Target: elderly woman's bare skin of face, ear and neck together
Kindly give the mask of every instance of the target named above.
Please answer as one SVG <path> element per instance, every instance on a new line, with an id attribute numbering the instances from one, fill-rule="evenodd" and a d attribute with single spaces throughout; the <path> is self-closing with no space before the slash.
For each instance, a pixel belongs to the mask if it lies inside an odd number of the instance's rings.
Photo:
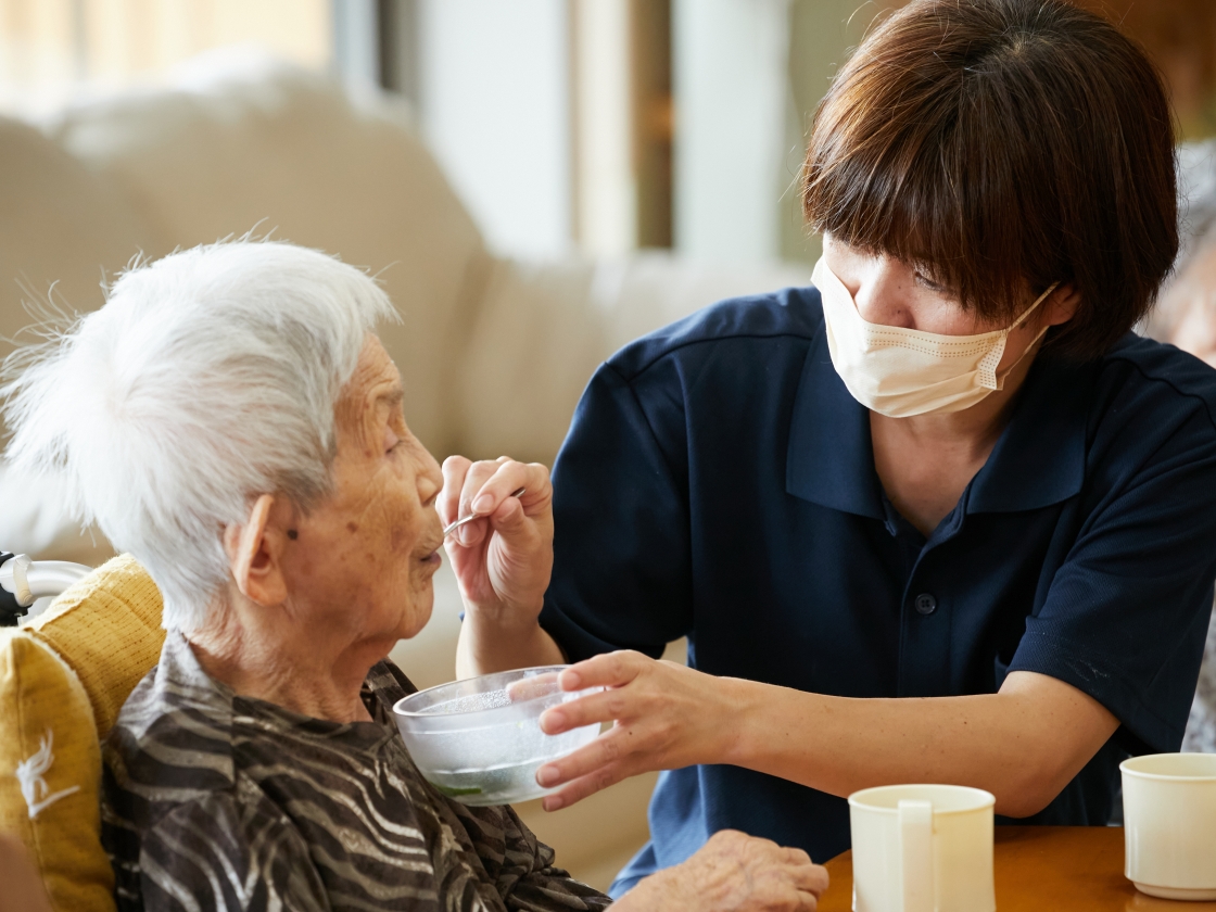
<path id="1" fill-rule="evenodd" d="M 261 495 L 224 530 L 226 603 L 187 640 L 238 693 L 333 721 L 365 721 L 368 669 L 430 617 L 443 475 L 410 433 L 401 379 L 368 336 L 337 407 L 333 490 L 308 513 Z"/>

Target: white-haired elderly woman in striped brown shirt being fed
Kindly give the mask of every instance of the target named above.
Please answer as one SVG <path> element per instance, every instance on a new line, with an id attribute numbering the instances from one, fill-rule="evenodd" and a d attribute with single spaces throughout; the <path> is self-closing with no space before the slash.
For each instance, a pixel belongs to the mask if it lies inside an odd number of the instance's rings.
<path id="1" fill-rule="evenodd" d="M 412 686 L 385 657 L 429 618 L 443 539 L 439 466 L 372 333 L 393 316 L 314 250 L 202 247 L 123 275 L 7 390 L 10 457 L 62 472 L 164 596 L 161 663 L 105 747 L 123 910 L 609 903 L 510 807 L 439 794 L 392 722 Z M 494 514 L 500 551 L 535 553 L 548 473 L 503 472 L 528 492 Z M 461 582 L 510 597 L 547 573 Z M 619 908 L 812 910 L 824 885 L 805 854 L 731 833 Z"/>

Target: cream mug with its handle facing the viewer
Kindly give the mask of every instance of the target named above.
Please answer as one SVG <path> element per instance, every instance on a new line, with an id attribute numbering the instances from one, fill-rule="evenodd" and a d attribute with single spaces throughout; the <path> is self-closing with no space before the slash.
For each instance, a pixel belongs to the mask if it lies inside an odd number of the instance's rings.
<path id="1" fill-rule="evenodd" d="M 992 912 L 992 806 L 963 786 L 849 795 L 855 912 Z"/>

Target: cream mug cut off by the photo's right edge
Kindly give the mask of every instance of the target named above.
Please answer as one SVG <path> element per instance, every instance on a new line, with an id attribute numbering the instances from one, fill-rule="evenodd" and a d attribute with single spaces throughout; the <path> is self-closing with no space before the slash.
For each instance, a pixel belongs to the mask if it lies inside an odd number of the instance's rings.
<path id="1" fill-rule="evenodd" d="M 1216 754 L 1124 760 L 1124 873 L 1167 900 L 1216 900 Z"/>

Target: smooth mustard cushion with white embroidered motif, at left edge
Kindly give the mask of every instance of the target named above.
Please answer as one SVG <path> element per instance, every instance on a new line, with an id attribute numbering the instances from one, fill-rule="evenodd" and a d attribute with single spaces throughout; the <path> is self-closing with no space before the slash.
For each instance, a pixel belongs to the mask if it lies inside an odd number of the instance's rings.
<path id="1" fill-rule="evenodd" d="M 80 681 L 24 631 L 0 631 L 0 831 L 29 848 L 57 912 L 114 908 L 100 786 L 101 750 Z"/>

